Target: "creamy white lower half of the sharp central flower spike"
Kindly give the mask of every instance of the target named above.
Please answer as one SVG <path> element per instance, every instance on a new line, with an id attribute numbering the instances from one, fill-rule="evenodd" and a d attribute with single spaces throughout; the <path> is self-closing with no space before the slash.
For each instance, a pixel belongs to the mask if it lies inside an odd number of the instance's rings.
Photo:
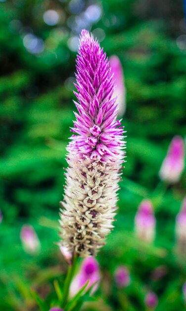
<path id="1" fill-rule="evenodd" d="M 73 156 L 68 163 L 60 214 L 62 244 L 87 257 L 96 254 L 113 228 L 120 167 L 118 161 L 76 161 Z"/>

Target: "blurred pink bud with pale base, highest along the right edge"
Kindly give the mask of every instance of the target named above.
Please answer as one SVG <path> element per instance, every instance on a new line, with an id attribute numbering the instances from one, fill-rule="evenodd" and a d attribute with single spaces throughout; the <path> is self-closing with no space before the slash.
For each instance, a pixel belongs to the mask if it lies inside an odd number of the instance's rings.
<path id="1" fill-rule="evenodd" d="M 178 182 L 184 170 L 184 157 L 184 140 L 181 136 L 175 136 L 161 165 L 159 171 L 160 179 L 170 184 Z"/>

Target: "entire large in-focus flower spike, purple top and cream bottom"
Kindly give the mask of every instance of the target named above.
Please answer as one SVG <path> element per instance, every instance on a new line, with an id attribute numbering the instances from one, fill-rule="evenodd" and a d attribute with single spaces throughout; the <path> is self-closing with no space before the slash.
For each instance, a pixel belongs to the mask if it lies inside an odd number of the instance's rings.
<path id="1" fill-rule="evenodd" d="M 82 30 L 75 95 L 75 134 L 67 147 L 61 244 L 82 257 L 95 255 L 113 228 L 124 162 L 123 127 L 117 116 L 113 76 L 103 49 Z"/>

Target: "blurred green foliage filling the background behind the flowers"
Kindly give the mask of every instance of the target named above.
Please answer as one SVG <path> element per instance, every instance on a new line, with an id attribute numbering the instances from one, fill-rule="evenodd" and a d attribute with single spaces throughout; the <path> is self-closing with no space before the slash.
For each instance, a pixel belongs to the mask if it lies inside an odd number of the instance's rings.
<path id="1" fill-rule="evenodd" d="M 163 197 L 153 198 L 155 244 L 143 245 L 133 233 L 138 205 L 152 196 L 172 137 L 186 135 L 186 48 L 176 41 L 186 33 L 182 1 L 90 0 L 84 9 L 90 4 L 102 8 L 91 30 L 103 30 L 100 45 L 107 56 L 117 55 L 124 68 L 127 110 L 122 122 L 128 138 L 117 222 L 98 255 L 103 300 L 82 310 L 142 311 L 148 290 L 159 297 L 157 311 L 186 310 L 186 259 L 176 255 L 174 233 L 186 172 Z M 44 22 L 47 9 L 62 14 L 57 25 Z M 45 298 L 49 309 L 55 299 L 53 280 L 64 280 L 66 264 L 55 242 L 75 109 L 71 15 L 78 14 L 69 10 L 68 0 L 0 1 L 0 310 L 38 310 L 30 288 Z M 31 31 L 44 40 L 40 54 L 24 47 L 24 35 Z M 41 240 L 38 255 L 22 248 L 25 223 L 34 226 Z M 131 272 L 132 283 L 125 290 L 117 290 L 113 281 L 120 264 Z M 152 270 L 160 265 L 167 273 L 153 281 Z"/>

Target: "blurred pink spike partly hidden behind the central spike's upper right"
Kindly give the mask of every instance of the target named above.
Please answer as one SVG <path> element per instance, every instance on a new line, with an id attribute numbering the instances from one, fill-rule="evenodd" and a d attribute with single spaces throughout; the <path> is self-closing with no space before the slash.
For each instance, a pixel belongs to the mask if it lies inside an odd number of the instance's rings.
<path id="1" fill-rule="evenodd" d="M 114 74 L 115 89 L 112 98 L 117 97 L 118 102 L 118 116 L 123 116 L 126 110 L 126 88 L 124 81 L 124 73 L 121 62 L 116 55 L 109 58 L 109 66 L 111 73 Z"/>

